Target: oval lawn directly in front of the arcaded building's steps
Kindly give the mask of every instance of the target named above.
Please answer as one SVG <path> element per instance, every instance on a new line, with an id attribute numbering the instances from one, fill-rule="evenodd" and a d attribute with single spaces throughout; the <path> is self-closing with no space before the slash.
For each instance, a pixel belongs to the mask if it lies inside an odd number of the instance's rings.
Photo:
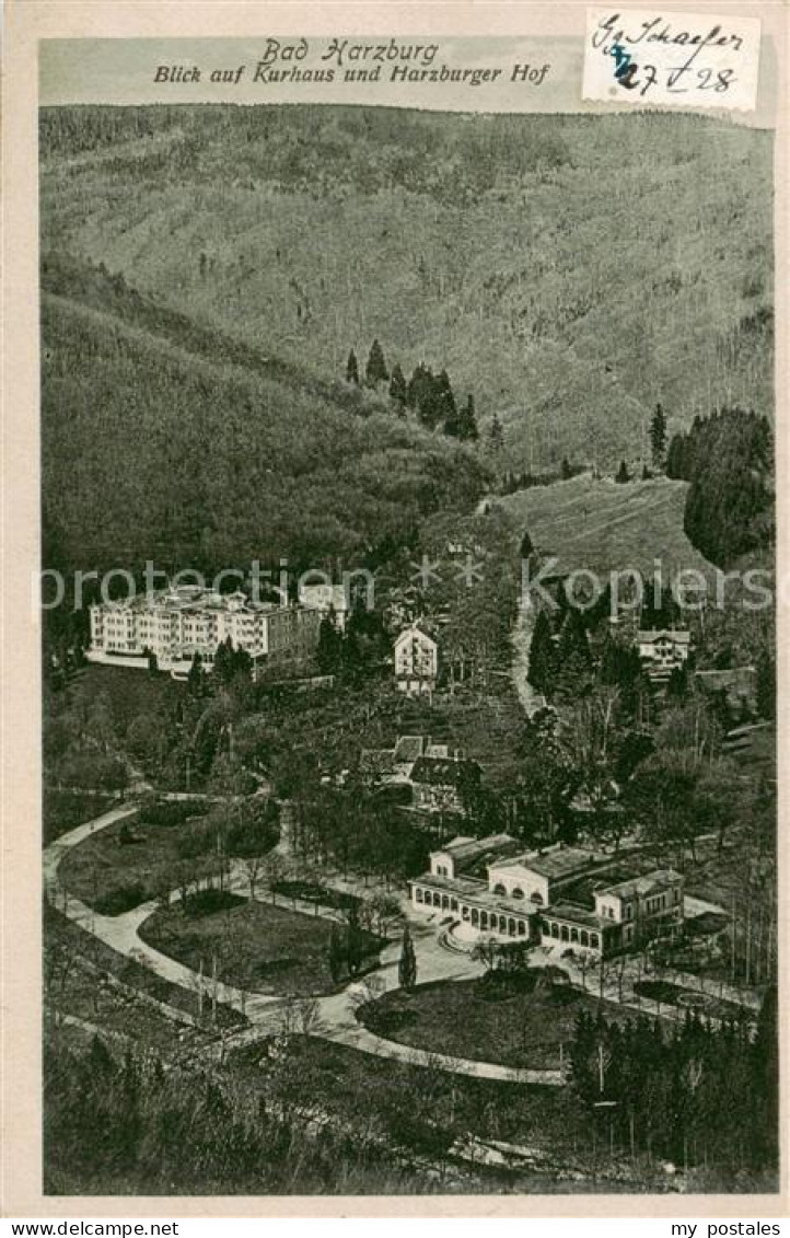
<path id="1" fill-rule="evenodd" d="M 505 1066 L 553 1068 L 560 1045 L 573 1039 L 579 1010 L 623 1023 L 638 1011 L 593 994 L 557 984 L 518 992 L 493 977 L 461 983 L 417 985 L 386 993 L 364 1006 L 360 1019 L 371 1031 L 416 1049 Z"/>

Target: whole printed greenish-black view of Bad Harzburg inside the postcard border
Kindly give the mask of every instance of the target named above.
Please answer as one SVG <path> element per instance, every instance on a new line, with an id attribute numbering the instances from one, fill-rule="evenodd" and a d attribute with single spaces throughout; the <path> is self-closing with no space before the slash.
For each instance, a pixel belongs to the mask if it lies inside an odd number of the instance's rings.
<path id="1" fill-rule="evenodd" d="M 638 16 L 40 45 L 45 1197 L 780 1192 L 774 120 Z"/>

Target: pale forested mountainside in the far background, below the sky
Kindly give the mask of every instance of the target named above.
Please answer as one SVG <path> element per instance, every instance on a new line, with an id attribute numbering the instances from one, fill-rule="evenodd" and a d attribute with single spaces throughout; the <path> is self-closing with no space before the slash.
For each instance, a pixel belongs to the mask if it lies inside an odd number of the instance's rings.
<path id="1" fill-rule="evenodd" d="M 446 369 L 500 467 L 773 412 L 771 135 L 698 116 L 45 109 L 42 244 L 265 355 Z M 649 157 L 648 157 L 649 156 Z"/>

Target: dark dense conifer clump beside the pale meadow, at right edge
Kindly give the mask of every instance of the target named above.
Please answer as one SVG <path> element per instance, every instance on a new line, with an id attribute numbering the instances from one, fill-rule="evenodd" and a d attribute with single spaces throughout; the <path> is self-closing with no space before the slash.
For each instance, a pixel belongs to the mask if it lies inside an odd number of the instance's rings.
<path id="1" fill-rule="evenodd" d="M 675 435 L 666 472 L 690 482 L 684 529 L 711 562 L 727 567 L 774 541 L 773 435 L 765 417 L 721 409 Z"/>

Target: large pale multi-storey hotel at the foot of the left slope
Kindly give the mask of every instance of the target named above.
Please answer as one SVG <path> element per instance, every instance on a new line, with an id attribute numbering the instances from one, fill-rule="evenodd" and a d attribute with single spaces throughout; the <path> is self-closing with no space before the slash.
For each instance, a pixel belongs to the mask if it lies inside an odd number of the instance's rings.
<path id="1" fill-rule="evenodd" d="M 206 670 L 223 641 L 255 661 L 308 656 L 318 644 L 322 613 L 315 607 L 251 602 L 246 594 L 178 586 L 90 607 L 88 659 L 186 675 L 196 652 Z"/>

